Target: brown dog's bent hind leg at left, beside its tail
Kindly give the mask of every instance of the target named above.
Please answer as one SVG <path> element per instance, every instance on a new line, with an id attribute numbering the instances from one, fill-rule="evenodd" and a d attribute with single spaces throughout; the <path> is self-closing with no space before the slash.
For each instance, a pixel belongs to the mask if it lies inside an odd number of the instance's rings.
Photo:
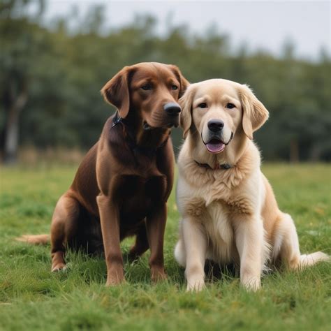
<path id="1" fill-rule="evenodd" d="M 61 196 L 57 202 L 50 231 L 52 272 L 63 270 L 66 267 L 64 261 L 66 244 L 76 233 L 79 210 L 78 201 L 68 196 L 68 193 Z"/>

